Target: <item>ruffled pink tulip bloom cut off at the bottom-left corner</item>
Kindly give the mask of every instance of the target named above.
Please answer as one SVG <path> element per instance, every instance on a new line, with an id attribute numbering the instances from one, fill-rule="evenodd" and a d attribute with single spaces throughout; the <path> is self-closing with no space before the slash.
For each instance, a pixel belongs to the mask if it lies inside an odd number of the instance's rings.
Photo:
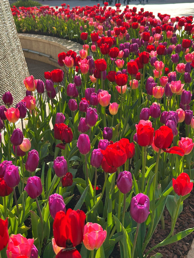
<path id="1" fill-rule="evenodd" d="M 30 257 L 34 239 L 25 238 L 21 234 L 12 234 L 7 246 L 7 257 L 16 258 L 19 255 Z"/>

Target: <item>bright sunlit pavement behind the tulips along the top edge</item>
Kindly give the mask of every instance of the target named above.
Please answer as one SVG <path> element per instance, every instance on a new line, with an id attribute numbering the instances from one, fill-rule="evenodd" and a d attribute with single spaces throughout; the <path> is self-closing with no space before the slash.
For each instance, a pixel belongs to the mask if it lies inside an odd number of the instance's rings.
<path id="1" fill-rule="evenodd" d="M 101 1 L 92 1 L 92 0 L 45 0 L 45 1 L 39 1 L 42 5 L 50 5 L 51 7 L 54 6 L 61 6 L 62 3 L 66 3 L 66 5 L 70 5 L 70 8 L 75 6 L 91 6 L 96 5 L 97 3 L 100 3 L 100 5 L 103 6 L 102 0 Z M 106 2 L 106 0 L 105 0 Z M 107 1 L 108 2 L 108 1 Z M 117 0 L 118 2 L 118 0 Z M 124 10 L 127 0 L 120 0 L 121 3 L 121 9 Z M 115 0 L 112 1 L 112 5 L 115 5 Z M 186 2 L 182 0 L 149 0 L 149 3 L 146 2 L 146 0 L 142 0 L 142 4 L 139 3 L 139 0 L 129 2 L 129 8 L 133 8 L 133 6 L 136 6 L 138 8 L 138 11 L 140 8 L 144 8 L 145 11 L 152 11 L 155 16 L 157 16 L 158 12 L 162 14 L 170 14 L 171 17 L 175 16 L 188 16 L 193 15 L 194 16 L 194 1 L 193 0 L 186 0 Z"/>

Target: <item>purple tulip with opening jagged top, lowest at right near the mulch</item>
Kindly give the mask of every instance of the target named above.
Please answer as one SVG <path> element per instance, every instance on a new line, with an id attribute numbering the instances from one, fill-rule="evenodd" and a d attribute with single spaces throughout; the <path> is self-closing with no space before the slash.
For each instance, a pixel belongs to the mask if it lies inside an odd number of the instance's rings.
<path id="1" fill-rule="evenodd" d="M 146 221 L 149 215 L 149 198 L 145 194 L 137 194 L 131 200 L 130 214 L 137 223 Z"/>

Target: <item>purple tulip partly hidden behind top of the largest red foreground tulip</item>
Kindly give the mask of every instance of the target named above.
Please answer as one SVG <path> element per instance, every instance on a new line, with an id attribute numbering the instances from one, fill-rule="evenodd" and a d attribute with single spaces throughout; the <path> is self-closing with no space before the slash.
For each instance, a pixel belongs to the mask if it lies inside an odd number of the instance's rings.
<path id="1" fill-rule="evenodd" d="M 49 196 L 49 211 L 53 219 L 55 219 L 55 215 L 58 211 L 64 211 L 66 213 L 65 203 L 60 194 L 52 194 Z"/>

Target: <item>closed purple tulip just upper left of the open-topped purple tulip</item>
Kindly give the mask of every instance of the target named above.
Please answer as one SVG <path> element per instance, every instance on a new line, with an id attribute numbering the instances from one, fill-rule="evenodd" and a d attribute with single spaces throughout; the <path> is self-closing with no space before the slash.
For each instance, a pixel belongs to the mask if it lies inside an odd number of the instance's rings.
<path id="1" fill-rule="evenodd" d="M 120 172 L 117 178 L 116 185 L 123 194 L 129 193 L 133 185 L 131 173 L 129 171 Z"/>

